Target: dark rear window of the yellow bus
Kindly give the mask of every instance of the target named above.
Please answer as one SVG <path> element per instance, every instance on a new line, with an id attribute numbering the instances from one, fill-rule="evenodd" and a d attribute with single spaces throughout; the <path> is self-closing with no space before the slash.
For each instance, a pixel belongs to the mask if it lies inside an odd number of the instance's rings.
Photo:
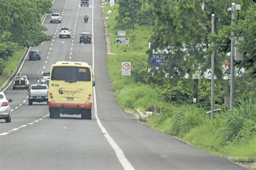
<path id="1" fill-rule="evenodd" d="M 54 67 L 51 72 L 51 80 L 58 81 L 91 81 L 90 69 L 86 67 Z"/>

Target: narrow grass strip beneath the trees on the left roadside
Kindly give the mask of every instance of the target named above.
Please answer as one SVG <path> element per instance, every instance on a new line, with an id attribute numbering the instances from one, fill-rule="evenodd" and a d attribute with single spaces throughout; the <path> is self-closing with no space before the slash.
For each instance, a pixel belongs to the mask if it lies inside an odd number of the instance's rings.
<path id="1" fill-rule="evenodd" d="M 25 53 L 26 48 L 19 49 L 14 56 L 11 56 L 7 61 L 5 61 L 5 68 L 3 74 L 0 76 L 0 87 L 3 86 L 6 80 L 8 80 L 9 76 L 19 65 L 19 60 L 21 60 L 23 54 Z"/>

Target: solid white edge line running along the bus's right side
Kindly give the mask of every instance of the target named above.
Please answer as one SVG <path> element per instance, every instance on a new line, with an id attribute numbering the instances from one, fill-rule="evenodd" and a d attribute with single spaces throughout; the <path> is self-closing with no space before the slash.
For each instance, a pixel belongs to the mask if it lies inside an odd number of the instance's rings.
<path id="1" fill-rule="evenodd" d="M 92 6 L 94 6 L 94 0 L 92 0 Z M 93 37 L 94 37 L 94 33 L 93 33 L 93 10 L 94 8 L 92 8 L 92 73 L 94 74 L 94 66 L 95 66 L 95 59 L 94 59 L 94 41 L 93 41 Z M 117 145 L 117 143 L 114 141 L 114 139 L 110 136 L 110 134 L 106 131 L 106 129 L 104 128 L 104 126 L 102 125 L 102 123 L 99 120 L 98 117 L 98 113 L 97 113 L 97 102 L 96 102 L 96 90 L 95 87 L 93 87 L 93 98 L 94 98 L 94 105 L 95 105 L 95 118 L 97 120 L 97 124 L 99 126 L 99 128 L 102 130 L 105 138 L 107 139 L 107 141 L 109 142 L 109 144 L 112 146 L 114 152 L 116 152 L 116 156 L 117 159 L 119 160 L 120 164 L 123 166 L 124 169 L 134 169 L 134 167 L 132 166 L 132 164 L 130 163 L 130 161 L 125 157 L 123 150 Z"/>

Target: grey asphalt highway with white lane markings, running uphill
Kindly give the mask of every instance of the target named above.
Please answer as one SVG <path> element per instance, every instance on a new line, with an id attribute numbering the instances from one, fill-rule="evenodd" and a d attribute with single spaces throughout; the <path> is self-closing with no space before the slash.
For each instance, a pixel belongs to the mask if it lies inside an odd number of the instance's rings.
<path id="1" fill-rule="evenodd" d="M 52 11 L 63 15 L 62 23 L 50 24 L 46 16 L 43 25 L 53 38 L 31 48 L 42 52 L 41 61 L 26 58 L 21 69 L 32 84 L 56 61 L 88 62 L 96 80 L 92 119 L 50 119 L 46 103 L 28 105 L 28 91 L 10 86 L 5 94 L 13 100 L 12 122 L 0 120 L 0 169 L 242 169 L 147 128 L 118 106 L 107 74 L 101 5 L 101 0 L 91 0 L 89 8 L 79 0 L 55 0 Z M 58 37 L 61 27 L 71 29 L 70 39 Z M 79 44 L 82 32 L 93 35 L 92 44 Z"/>

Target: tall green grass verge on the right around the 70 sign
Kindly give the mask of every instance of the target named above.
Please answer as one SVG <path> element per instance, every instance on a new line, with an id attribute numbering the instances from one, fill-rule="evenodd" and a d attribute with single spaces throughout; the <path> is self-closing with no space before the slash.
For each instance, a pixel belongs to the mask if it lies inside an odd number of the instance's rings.
<path id="1" fill-rule="evenodd" d="M 110 33 L 111 52 L 107 56 L 110 80 L 116 91 L 117 102 L 123 109 L 149 111 L 154 107 L 155 114 L 150 115 L 146 125 L 166 134 L 177 136 L 190 144 L 208 152 L 237 158 L 237 161 L 256 161 L 256 125 L 255 101 L 241 102 L 233 112 L 221 112 L 213 120 L 207 116 L 206 109 L 195 105 L 173 105 L 164 103 L 158 95 L 159 89 L 139 83 L 140 74 L 147 74 L 149 27 L 136 26 L 135 30 L 127 29 L 126 37 L 130 38 L 129 46 L 115 44 L 117 34 L 118 5 L 104 8 L 111 10 L 107 20 Z M 126 52 L 124 51 L 126 49 Z M 121 75 L 121 62 L 131 62 L 131 76 Z M 140 70 L 143 70 L 140 73 Z"/>

